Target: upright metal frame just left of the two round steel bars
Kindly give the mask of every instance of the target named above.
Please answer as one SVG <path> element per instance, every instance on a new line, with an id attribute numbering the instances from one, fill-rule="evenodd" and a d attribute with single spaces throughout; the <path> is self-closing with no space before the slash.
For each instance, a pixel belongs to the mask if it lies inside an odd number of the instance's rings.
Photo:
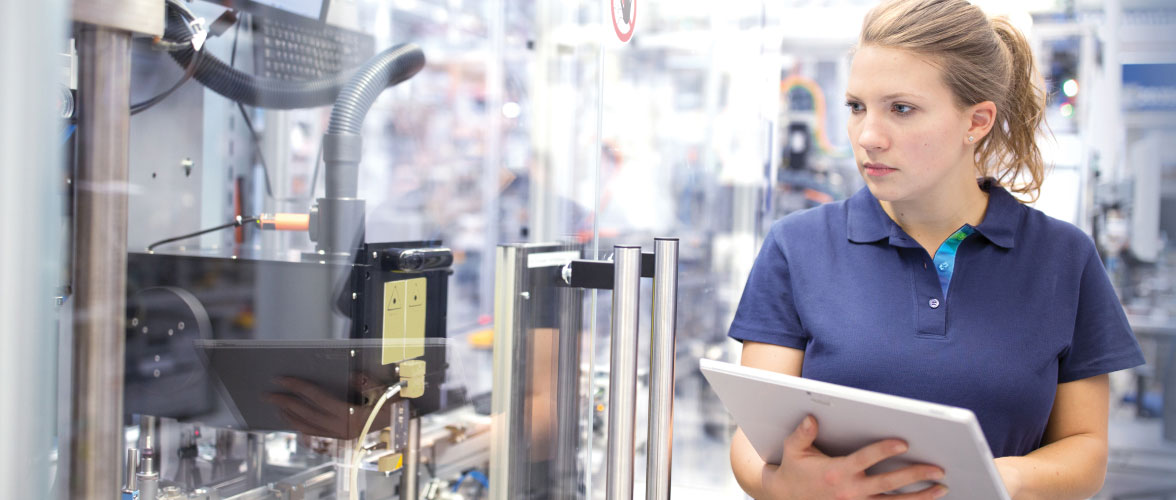
<path id="1" fill-rule="evenodd" d="M 561 286 L 559 273 L 580 253 L 566 244 L 497 247 L 490 499 L 579 498 L 583 292 Z M 535 328 L 548 308 L 560 312 L 555 321 Z M 539 380 L 552 385 L 535 391 Z M 542 446 L 530 442 L 536 432 L 549 433 Z"/>

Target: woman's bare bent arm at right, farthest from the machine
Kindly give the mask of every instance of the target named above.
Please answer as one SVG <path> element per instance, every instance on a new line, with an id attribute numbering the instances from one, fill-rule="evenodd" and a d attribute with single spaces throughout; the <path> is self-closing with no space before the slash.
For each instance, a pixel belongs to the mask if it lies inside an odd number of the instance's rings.
<path id="1" fill-rule="evenodd" d="M 1045 446 L 1024 456 L 996 459 L 1014 500 L 1087 499 L 1107 475 L 1107 375 L 1060 384 Z"/>

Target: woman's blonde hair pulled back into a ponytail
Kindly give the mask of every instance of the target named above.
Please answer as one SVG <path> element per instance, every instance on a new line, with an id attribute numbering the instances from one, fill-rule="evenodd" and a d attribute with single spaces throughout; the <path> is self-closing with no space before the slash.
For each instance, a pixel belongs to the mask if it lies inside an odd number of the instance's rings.
<path id="1" fill-rule="evenodd" d="M 900 48 L 928 56 L 961 108 L 996 104 L 996 124 L 976 144 L 976 168 L 1009 191 L 1037 199 L 1044 162 L 1036 134 L 1045 93 L 1029 41 L 1007 19 L 988 18 L 965 0 L 891 0 L 866 14 L 858 47 Z"/>

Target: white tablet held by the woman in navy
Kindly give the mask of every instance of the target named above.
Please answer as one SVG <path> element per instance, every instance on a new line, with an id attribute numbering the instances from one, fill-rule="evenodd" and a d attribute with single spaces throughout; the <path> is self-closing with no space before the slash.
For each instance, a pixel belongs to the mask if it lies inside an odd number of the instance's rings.
<path id="1" fill-rule="evenodd" d="M 703 359 L 702 374 L 743 429 L 760 458 L 780 464 L 784 438 L 806 415 L 817 419 L 816 447 L 841 456 L 883 439 L 909 451 L 867 473 L 931 464 L 946 472 L 947 498 L 1009 500 L 988 441 L 969 409 Z M 930 484 L 914 485 L 907 491 Z"/>

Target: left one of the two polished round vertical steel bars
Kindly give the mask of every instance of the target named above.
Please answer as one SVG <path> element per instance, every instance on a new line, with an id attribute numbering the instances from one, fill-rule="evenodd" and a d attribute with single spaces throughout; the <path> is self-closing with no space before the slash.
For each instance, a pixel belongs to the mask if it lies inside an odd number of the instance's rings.
<path id="1" fill-rule="evenodd" d="M 608 500 L 633 498 L 637 418 L 637 326 L 641 247 L 614 246 L 613 334 L 608 374 Z"/>

